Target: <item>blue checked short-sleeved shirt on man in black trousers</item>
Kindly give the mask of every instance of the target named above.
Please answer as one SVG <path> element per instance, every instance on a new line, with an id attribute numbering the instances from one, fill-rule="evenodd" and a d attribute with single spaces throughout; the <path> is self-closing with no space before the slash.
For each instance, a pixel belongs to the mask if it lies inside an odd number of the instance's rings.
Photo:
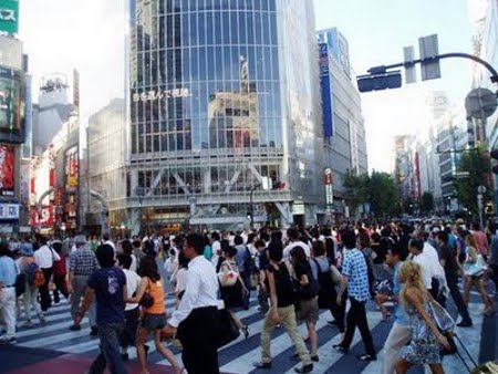
<path id="1" fill-rule="evenodd" d="M 347 249 L 342 264 L 342 273 L 347 277 L 347 294 L 356 301 L 370 299 L 369 270 L 366 260 L 356 248 Z"/>

